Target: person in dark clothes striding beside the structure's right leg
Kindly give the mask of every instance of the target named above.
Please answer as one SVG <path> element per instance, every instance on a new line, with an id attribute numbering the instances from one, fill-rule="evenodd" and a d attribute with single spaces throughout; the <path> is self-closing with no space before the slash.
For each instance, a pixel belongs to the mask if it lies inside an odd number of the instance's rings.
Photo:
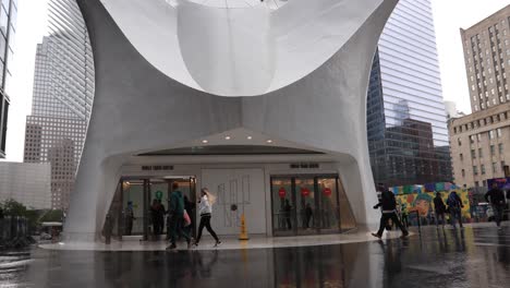
<path id="1" fill-rule="evenodd" d="M 379 203 L 374 206 L 374 209 L 382 207 L 382 215 L 380 216 L 379 230 L 376 233 L 372 233 L 372 236 L 380 239 L 385 228 L 387 227 L 388 220 L 391 219 L 392 223 L 396 224 L 402 231 L 402 238 L 408 237 L 408 229 L 403 227 L 402 223 L 400 223 L 399 217 L 397 216 L 397 201 L 393 193 L 384 187 L 380 188 L 380 191 L 381 194 Z"/>

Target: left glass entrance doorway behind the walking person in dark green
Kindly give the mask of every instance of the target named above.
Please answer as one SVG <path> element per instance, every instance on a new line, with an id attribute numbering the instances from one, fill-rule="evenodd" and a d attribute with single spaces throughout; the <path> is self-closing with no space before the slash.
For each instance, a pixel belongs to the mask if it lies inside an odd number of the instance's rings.
<path id="1" fill-rule="evenodd" d="M 167 215 L 172 185 L 177 183 L 191 209 L 195 236 L 196 179 L 190 177 L 122 178 L 110 207 L 113 220 L 112 235 L 119 239 L 142 236 L 144 240 L 166 238 Z M 186 205 L 186 204 L 185 204 Z"/>

